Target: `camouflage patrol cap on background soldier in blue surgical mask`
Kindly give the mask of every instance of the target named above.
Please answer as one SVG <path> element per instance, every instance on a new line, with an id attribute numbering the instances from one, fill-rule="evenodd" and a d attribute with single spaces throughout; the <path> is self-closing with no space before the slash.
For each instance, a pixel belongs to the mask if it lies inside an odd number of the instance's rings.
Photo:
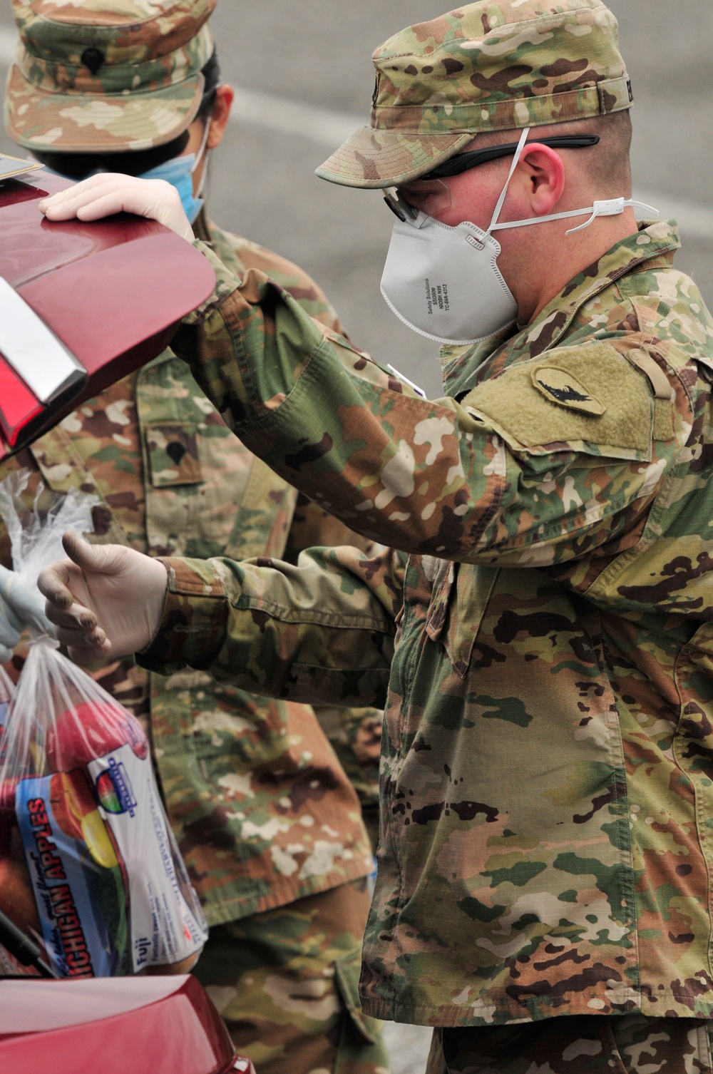
<path id="1" fill-rule="evenodd" d="M 29 149 L 120 153 L 195 118 L 217 0 L 12 0 L 8 133 Z"/>

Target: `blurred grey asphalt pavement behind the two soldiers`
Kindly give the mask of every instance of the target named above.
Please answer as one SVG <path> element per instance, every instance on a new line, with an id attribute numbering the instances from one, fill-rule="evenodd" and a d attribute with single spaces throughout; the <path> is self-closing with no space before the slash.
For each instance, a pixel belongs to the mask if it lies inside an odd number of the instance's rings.
<path id="1" fill-rule="evenodd" d="M 635 90 L 636 194 L 673 216 L 678 265 L 713 304 L 713 4 L 711 0 L 611 0 Z M 436 397 L 437 347 L 410 332 L 379 293 L 391 216 L 378 192 L 314 176 L 368 121 L 370 53 L 434 0 L 222 0 L 213 27 L 223 73 L 238 90 L 224 144 L 212 162 L 209 207 L 222 227 L 292 258 L 330 294 L 354 342 Z M 0 75 L 12 57 L 8 0 L 0 8 Z M 0 149 L 12 145 L 0 135 Z M 423 1069 L 428 1033 L 390 1029 L 395 1074 Z"/>

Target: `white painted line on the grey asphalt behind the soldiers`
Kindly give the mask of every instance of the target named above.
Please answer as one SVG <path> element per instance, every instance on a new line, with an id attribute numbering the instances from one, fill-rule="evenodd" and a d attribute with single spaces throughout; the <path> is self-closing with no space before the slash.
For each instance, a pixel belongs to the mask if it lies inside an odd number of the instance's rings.
<path id="1" fill-rule="evenodd" d="M 14 30 L 0 27 L 0 64 L 12 63 L 16 40 Z M 306 139 L 328 153 L 336 149 L 358 127 L 368 124 L 367 116 L 333 112 L 331 108 L 321 108 L 244 86 L 235 87 L 231 118 L 237 124 L 250 124 L 277 134 Z M 679 201 L 653 191 L 637 190 L 635 197 L 655 205 L 663 217 L 678 220 L 684 236 L 713 242 L 712 207 Z"/>

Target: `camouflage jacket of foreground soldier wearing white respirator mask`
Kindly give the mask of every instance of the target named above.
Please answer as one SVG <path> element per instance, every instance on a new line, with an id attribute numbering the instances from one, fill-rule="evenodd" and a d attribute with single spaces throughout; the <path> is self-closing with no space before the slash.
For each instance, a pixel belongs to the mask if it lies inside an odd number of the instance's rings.
<path id="1" fill-rule="evenodd" d="M 253 450 L 410 553 L 171 560 L 142 657 L 388 688 L 368 1014 L 713 1015 L 713 321 L 678 246 L 641 226 L 446 351 L 436 403 L 256 274 L 174 342 Z"/>

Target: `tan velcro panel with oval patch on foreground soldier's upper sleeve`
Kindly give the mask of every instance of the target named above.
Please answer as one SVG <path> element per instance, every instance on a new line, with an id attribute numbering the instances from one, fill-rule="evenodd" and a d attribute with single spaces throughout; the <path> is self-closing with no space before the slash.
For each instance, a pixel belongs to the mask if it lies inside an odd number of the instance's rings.
<path id="1" fill-rule="evenodd" d="M 558 347 L 475 388 L 463 406 L 513 447 L 590 444 L 602 454 L 651 454 L 651 390 L 607 343 Z"/>

